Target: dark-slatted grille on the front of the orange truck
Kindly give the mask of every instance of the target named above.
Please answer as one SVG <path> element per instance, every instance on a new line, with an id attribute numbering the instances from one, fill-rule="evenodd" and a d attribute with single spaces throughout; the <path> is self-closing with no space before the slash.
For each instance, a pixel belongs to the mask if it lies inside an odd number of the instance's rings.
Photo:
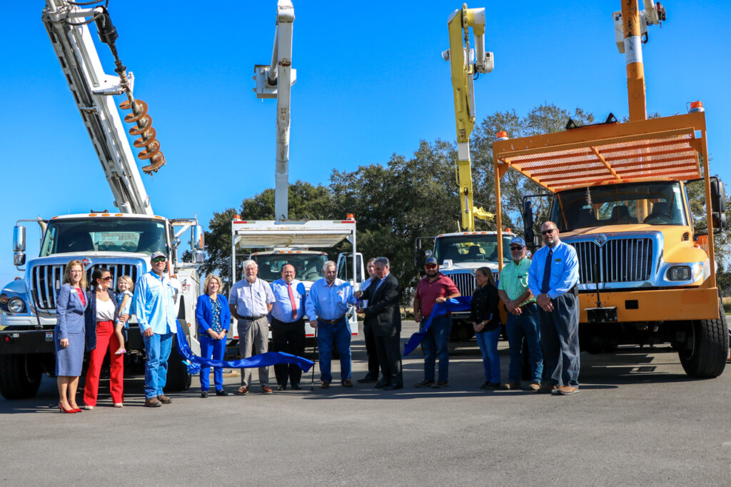
<path id="1" fill-rule="evenodd" d="M 608 240 L 603 246 L 593 241 L 567 242 L 576 249 L 579 258 L 579 282 L 637 282 L 650 279 L 652 271 L 652 239 L 620 238 Z"/>

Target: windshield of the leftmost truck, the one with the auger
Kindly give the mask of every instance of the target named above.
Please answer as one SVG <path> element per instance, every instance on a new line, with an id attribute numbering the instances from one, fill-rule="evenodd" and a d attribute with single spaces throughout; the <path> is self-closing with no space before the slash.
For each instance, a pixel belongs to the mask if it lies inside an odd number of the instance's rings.
<path id="1" fill-rule="evenodd" d="M 61 253 L 167 253 L 164 222 L 131 218 L 52 220 L 43 235 L 41 257 Z"/>

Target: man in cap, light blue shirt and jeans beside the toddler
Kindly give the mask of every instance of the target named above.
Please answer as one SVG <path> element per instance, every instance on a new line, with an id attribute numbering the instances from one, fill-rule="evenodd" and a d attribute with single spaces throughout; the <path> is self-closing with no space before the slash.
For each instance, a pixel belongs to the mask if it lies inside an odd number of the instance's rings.
<path id="1" fill-rule="evenodd" d="M 178 331 L 175 313 L 177 294 L 170 277 L 165 275 L 167 258 L 162 252 L 150 257 L 151 271 L 137 279 L 135 315 L 145 342 L 145 406 L 160 407 L 173 400 L 162 393 L 167 380 L 167 359 Z"/>

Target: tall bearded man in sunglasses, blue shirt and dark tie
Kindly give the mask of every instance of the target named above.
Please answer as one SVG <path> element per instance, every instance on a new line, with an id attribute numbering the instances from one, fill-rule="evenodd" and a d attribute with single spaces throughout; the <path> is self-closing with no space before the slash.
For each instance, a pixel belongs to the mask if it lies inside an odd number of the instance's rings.
<path id="1" fill-rule="evenodd" d="M 541 225 L 545 246 L 533 256 L 528 285 L 536 296 L 543 366 L 550 383 L 543 392 L 579 392 L 579 260 L 576 250 L 558 238 L 553 222 Z"/>

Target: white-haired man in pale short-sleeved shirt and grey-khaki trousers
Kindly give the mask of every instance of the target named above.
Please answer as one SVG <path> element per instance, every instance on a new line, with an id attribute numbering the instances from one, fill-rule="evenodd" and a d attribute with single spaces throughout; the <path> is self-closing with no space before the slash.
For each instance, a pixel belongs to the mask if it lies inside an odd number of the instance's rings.
<path id="1" fill-rule="evenodd" d="M 267 352 L 269 345 L 269 321 L 267 314 L 272 309 L 274 294 L 269 283 L 257 279 L 259 266 L 253 260 L 243 261 L 244 279 L 236 282 L 229 291 L 229 308 L 235 317 L 238 331 L 238 350 L 241 358 L 249 358 Z M 269 367 L 259 368 L 259 384 L 262 393 L 272 393 L 269 387 Z M 251 369 L 241 369 L 239 394 L 249 393 Z"/>

